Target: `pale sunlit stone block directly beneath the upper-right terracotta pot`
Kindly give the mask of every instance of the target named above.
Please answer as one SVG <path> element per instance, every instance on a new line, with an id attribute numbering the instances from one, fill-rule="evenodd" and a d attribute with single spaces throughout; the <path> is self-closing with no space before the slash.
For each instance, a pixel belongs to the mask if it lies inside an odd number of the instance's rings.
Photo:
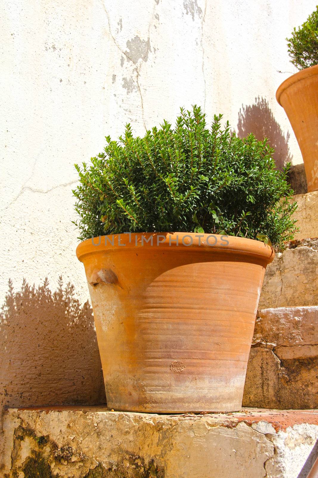
<path id="1" fill-rule="evenodd" d="M 318 191 L 307 194 L 297 194 L 293 196 L 297 201 L 298 207 L 293 214 L 297 219 L 296 226 L 299 232 L 295 234 L 295 239 L 317 238 L 318 237 Z"/>

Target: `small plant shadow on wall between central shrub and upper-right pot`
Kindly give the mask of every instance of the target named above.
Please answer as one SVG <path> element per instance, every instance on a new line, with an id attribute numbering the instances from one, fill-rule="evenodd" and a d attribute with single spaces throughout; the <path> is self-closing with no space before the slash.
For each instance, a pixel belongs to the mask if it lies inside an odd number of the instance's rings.
<path id="1" fill-rule="evenodd" d="M 286 137 L 274 118 L 265 98 L 255 98 L 253 105 L 242 105 L 238 113 L 237 136 L 244 138 L 249 133 L 254 133 L 258 141 L 268 139 L 274 148 L 274 160 L 277 169 L 282 170 L 287 163 L 292 161 L 293 156 L 289 151 L 288 141 L 290 133 Z"/>

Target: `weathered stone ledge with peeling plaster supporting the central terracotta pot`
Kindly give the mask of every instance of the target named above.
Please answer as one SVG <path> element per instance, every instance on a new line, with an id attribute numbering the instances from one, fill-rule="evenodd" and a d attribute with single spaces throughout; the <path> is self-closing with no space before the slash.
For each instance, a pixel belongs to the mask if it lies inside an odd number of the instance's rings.
<path id="1" fill-rule="evenodd" d="M 11 409 L 4 431 L 6 478 L 305 478 L 318 451 L 309 410 Z"/>

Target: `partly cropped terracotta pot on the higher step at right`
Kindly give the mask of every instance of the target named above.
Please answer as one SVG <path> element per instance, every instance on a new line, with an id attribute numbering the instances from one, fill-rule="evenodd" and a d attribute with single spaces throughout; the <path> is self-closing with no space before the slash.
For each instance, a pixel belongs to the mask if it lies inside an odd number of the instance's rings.
<path id="1" fill-rule="evenodd" d="M 299 71 L 277 89 L 303 155 L 308 192 L 318 191 L 318 65 Z"/>

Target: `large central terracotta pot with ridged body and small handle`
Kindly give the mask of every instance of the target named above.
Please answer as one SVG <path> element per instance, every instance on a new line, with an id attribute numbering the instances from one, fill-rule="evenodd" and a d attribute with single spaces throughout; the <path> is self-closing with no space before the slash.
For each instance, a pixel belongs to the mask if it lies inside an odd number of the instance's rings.
<path id="1" fill-rule="evenodd" d="M 91 294 L 108 406 L 239 410 L 273 249 L 252 239 L 187 233 L 94 242 L 83 241 L 76 254 Z"/>

